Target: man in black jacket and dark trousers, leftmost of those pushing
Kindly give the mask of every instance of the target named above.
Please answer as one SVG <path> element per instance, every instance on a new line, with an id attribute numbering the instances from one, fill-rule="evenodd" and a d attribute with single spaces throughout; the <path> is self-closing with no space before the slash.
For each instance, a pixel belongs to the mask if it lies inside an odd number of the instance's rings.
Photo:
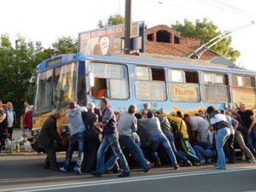
<path id="1" fill-rule="evenodd" d="M 54 146 L 54 140 L 62 145 L 65 141 L 59 136 L 57 132 L 56 120 L 61 117 L 61 112 L 59 109 L 54 109 L 51 115 L 44 121 L 44 125 L 38 135 L 38 143 L 40 143 L 47 154 L 44 168 L 50 170 L 59 170 L 57 166 L 56 152 Z"/>

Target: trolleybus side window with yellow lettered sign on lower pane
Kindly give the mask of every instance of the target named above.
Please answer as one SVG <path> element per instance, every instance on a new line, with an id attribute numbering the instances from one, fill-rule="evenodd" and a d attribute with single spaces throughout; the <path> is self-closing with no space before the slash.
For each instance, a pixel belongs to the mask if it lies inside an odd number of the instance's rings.
<path id="1" fill-rule="evenodd" d="M 169 69 L 168 84 L 172 101 L 200 102 L 201 96 L 197 72 Z"/>

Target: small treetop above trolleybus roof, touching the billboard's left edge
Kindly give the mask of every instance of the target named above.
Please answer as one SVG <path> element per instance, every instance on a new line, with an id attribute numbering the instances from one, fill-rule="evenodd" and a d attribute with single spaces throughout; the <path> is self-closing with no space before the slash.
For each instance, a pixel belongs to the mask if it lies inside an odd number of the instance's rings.
<path id="1" fill-rule="evenodd" d="M 58 38 L 55 43 L 52 44 L 55 49 L 55 54 L 68 54 L 78 52 L 78 39 L 71 38 L 69 36 Z"/>

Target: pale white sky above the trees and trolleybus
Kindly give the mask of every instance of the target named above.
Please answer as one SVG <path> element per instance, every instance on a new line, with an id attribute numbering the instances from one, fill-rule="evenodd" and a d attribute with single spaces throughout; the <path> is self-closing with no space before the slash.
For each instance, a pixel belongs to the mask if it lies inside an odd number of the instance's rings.
<path id="1" fill-rule="evenodd" d="M 230 34 L 231 46 L 241 52 L 237 65 L 256 70 L 254 0 L 131 0 L 131 4 L 132 20 L 144 20 L 148 28 L 204 18 L 221 32 L 245 26 Z M 79 32 L 96 29 L 98 21 L 108 20 L 109 15 L 125 15 L 125 0 L 8 0 L 0 5 L 0 35 L 9 35 L 14 43 L 20 34 L 41 41 L 44 48 L 57 38 L 78 38 Z"/>

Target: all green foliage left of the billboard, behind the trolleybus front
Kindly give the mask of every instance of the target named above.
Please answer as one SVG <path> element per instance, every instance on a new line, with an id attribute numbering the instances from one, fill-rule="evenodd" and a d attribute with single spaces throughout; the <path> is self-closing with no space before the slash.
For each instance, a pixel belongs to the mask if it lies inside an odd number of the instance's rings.
<path id="1" fill-rule="evenodd" d="M 18 119 L 24 113 L 23 103 L 33 103 L 35 87 L 31 81 L 36 78 L 38 64 L 54 55 L 78 52 L 78 41 L 71 37 L 58 38 L 52 46 L 54 49 L 44 49 L 41 42 L 33 43 L 20 35 L 12 45 L 8 35 L 0 36 L 0 99 L 13 103 Z"/>

